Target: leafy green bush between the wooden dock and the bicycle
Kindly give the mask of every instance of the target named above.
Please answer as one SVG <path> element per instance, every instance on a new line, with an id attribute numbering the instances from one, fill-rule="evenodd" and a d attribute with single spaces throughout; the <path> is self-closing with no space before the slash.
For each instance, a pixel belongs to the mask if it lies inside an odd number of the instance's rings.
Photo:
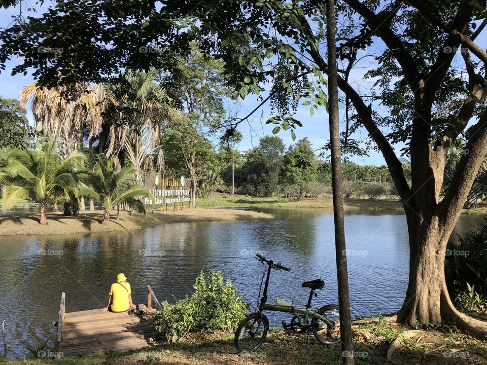
<path id="1" fill-rule="evenodd" d="M 237 293 L 230 280 L 224 283 L 219 271 L 212 270 L 207 277 L 201 271 L 193 287 L 192 296 L 175 304 L 165 301 L 162 309 L 151 316 L 157 322 L 157 330 L 166 339 L 203 330 L 233 332 L 248 313 L 242 295 Z"/>

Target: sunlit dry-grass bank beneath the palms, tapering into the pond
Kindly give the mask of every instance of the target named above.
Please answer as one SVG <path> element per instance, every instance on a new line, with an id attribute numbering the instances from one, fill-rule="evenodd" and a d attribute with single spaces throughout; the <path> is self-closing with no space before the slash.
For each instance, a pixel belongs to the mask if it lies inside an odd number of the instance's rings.
<path id="1" fill-rule="evenodd" d="M 236 221 L 270 218 L 272 215 L 248 210 L 184 209 L 177 211 L 148 210 L 147 215 L 121 212 L 120 220 L 113 216 L 109 224 L 100 223 L 101 211 L 83 211 L 78 217 L 65 217 L 61 213 L 48 213 L 47 225 L 39 224 L 39 214 L 0 216 L 0 235 L 70 234 L 135 230 L 163 223 L 197 221 Z"/>

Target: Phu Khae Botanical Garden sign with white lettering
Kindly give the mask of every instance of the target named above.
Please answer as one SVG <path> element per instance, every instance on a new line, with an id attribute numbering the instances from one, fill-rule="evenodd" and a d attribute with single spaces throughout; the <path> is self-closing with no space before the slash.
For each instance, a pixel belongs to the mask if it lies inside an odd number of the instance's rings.
<path id="1" fill-rule="evenodd" d="M 148 173 L 144 178 L 144 185 L 149 188 L 150 196 L 144 199 L 145 205 L 165 206 L 167 209 L 183 208 L 189 203 L 191 191 L 184 187 L 185 178 L 160 178 L 157 173 Z"/>

